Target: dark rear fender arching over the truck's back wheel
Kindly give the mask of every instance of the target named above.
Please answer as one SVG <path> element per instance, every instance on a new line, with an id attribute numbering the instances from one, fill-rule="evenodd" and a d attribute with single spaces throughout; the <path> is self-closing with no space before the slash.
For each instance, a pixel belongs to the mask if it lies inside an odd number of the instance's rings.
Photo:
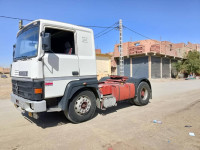
<path id="1" fill-rule="evenodd" d="M 138 88 L 139 84 L 141 82 L 146 82 L 149 85 L 150 89 L 151 89 L 150 98 L 152 99 L 152 88 L 151 88 L 151 83 L 150 83 L 149 79 L 147 79 L 147 78 L 132 78 L 132 77 L 130 77 L 130 78 L 128 78 L 128 80 L 126 82 L 134 83 L 134 85 L 135 85 L 135 96 L 137 96 L 137 88 Z"/>

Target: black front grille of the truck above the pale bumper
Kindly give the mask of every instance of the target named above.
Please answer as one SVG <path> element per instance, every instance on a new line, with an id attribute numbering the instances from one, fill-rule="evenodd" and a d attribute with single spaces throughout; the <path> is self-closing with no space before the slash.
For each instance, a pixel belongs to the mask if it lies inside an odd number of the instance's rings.
<path id="1" fill-rule="evenodd" d="M 12 91 L 14 94 L 28 100 L 39 101 L 43 99 L 44 94 L 35 94 L 35 88 L 43 88 L 43 81 L 19 81 L 12 80 Z M 43 90 L 44 91 L 44 90 Z"/>

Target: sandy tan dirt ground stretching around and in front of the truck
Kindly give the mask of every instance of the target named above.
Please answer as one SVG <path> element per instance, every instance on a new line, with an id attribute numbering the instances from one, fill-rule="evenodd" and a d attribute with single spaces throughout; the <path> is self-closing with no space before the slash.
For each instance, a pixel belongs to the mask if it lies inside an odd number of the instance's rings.
<path id="1" fill-rule="evenodd" d="M 0 149 L 200 150 L 200 80 L 151 83 L 153 99 L 147 106 L 121 103 L 97 111 L 92 120 L 81 124 L 70 123 L 62 112 L 29 118 L 13 106 L 9 96 L 1 97 Z M 0 90 L 1 96 L 5 93 Z"/>

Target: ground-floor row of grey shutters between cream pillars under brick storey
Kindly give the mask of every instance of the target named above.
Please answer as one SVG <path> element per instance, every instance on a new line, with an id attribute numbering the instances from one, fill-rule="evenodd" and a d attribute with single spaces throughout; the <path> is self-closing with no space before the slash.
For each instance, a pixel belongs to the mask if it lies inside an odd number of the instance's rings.
<path id="1" fill-rule="evenodd" d="M 118 59 L 116 59 L 117 69 L 115 75 L 119 75 L 119 63 L 117 60 Z M 172 62 L 177 61 L 174 58 L 155 55 L 140 57 L 130 56 L 129 58 L 125 58 L 125 60 L 127 60 L 124 69 L 125 76 L 135 78 L 147 77 L 149 79 L 171 78 L 174 72 Z"/>

